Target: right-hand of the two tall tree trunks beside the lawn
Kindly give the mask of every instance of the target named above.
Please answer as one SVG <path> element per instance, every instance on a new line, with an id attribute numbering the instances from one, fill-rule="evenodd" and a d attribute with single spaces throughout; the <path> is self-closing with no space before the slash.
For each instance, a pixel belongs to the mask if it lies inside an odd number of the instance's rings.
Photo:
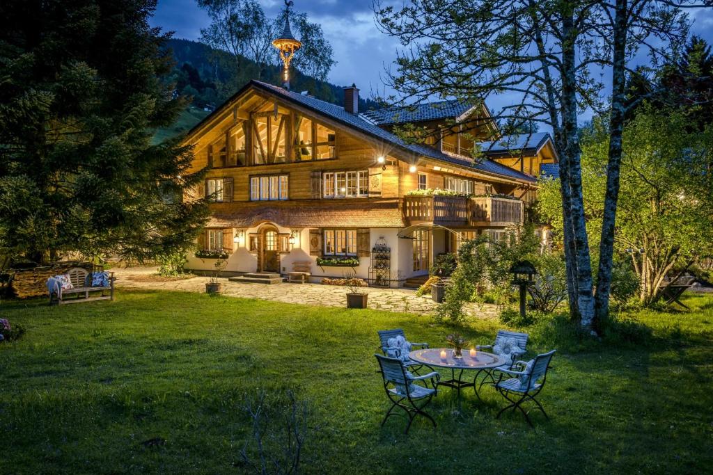
<path id="1" fill-rule="evenodd" d="M 614 233 L 619 199 L 619 175 L 622 158 L 622 131 L 626 100 L 627 0 L 615 0 L 614 51 L 612 63 L 612 110 L 609 119 L 609 159 L 607 191 L 604 198 L 602 234 L 599 244 L 599 267 L 595 298 L 595 327 L 609 316 L 609 297 L 614 265 Z"/>

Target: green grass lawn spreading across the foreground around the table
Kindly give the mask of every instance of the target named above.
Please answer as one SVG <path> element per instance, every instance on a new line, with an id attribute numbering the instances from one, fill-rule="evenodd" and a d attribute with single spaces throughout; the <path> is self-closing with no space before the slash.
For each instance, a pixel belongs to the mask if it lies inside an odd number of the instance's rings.
<path id="1" fill-rule="evenodd" d="M 260 389 L 309 401 L 306 473 L 705 471 L 713 298 L 686 302 L 694 312 L 637 315 L 652 328 L 643 345 L 534 328 L 531 350 L 560 346 L 541 397 L 550 422 L 496 420 L 503 400 L 491 389 L 480 404 L 467 391 L 458 416 L 446 389 L 431 405 L 436 430 L 420 420 L 404 436 L 404 419 L 379 427 L 388 406 L 376 330 L 443 345 L 451 330 L 429 318 L 158 291 L 61 307 L 5 301 L 0 318 L 27 332 L 0 345 L 0 473 L 245 473 L 243 407 Z M 463 333 L 486 343 L 497 328 Z M 165 444 L 141 444 L 157 437 Z"/>

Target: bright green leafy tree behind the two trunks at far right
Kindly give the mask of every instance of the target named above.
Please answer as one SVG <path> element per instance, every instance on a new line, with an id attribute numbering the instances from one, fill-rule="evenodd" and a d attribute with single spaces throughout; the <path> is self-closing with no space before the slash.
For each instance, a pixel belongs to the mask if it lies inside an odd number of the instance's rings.
<path id="1" fill-rule="evenodd" d="M 597 243 L 607 164 L 607 130 L 602 119 L 583 136 L 583 183 L 590 244 Z M 661 137 L 666 137 L 662 140 Z M 623 301 L 634 281 L 623 269 L 637 273 L 638 299 L 645 305 L 657 301 L 665 276 L 713 254 L 713 127 L 690 131 L 686 116 L 676 110 L 642 106 L 623 135 L 623 165 L 617 209 L 615 251 L 622 266 L 620 287 L 612 292 Z M 555 230 L 562 229 L 562 211 L 555 199 L 559 180 L 540 187 L 540 210 Z M 561 236 L 560 233 L 557 236 Z M 627 282 L 627 283 L 625 283 Z"/>

